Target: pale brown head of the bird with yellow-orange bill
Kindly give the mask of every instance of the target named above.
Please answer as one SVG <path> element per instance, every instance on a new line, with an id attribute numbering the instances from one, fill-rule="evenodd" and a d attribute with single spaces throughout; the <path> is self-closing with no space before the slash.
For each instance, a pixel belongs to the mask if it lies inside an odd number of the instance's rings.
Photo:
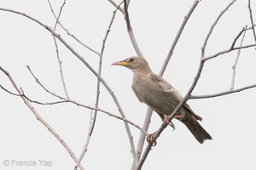
<path id="1" fill-rule="evenodd" d="M 113 63 L 112 65 L 123 65 L 131 71 L 151 71 L 148 62 L 143 57 L 129 57 L 127 59 Z"/>

